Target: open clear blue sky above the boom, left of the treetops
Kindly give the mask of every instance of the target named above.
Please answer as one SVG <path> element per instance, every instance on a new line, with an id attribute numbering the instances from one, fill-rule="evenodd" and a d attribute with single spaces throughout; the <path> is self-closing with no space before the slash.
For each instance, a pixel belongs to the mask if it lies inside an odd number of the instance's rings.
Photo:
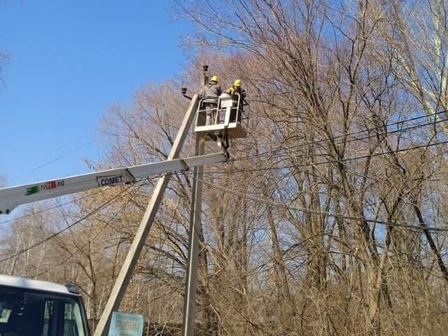
<path id="1" fill-rule="evenodd" d="M 87 172 L 112 103 L 180 73 L 170 1 L 0 1 L 0 175 L 8 186 Z"/>

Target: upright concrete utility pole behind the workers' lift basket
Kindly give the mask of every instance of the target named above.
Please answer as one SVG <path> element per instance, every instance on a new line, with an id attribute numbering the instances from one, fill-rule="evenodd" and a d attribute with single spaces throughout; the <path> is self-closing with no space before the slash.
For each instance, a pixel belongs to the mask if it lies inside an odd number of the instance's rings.
<path id="1" fill-rule="evenodd" d="M 201 84 L 208 82 L 208 66 L 203 66 Z M 202 118 L 202 119 L 200 119 Z M 198 124 L 205 124 L 203 115 L 198 115 Z M 196 133 L 195 155 L 203 155 L 205 152 L 205 135 Z M 187 279 L 185 282 L 184 312 L 182 321 L 182 336 L 194 335 L 194 318 L 196 316 L 196 288 L 198 284 L 198 254 L 199 240 L 202 235 L 202 181 L 204 167 L 195 166 L 192 184 L 192 208 L 190 212 L 190 227 L 188 238 Z"/>

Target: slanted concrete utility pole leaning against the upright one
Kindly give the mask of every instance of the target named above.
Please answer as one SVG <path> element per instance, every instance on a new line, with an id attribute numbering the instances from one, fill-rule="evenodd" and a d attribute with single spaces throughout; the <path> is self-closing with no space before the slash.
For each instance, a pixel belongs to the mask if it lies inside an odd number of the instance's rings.
<path id="1" fill-rule="evenodd" d="M 171 152 L 168 156 L 168 160 L 175 159 L 179 156 L 180 149 L 182 149 L 182 145 L 185 141 L 185 137 L 187 136 L 189 126 L 192 124 L 192 120 L 194 119 L 194 116 L 196 114 L 197 106 L 198 95 L 195 94 L 182 121 L 178 136 L 176 136 L 175 138 L 173 147 L 171 148 Z M 197 168 L 194 169 L 196 172 Z M 127 285 L 129 284 L 129 279 L 131 279 L 131 275 L 138 261 L 138 257 L 140 256 L 140 252 L 142 251 L 147 235 L 150 232 L 152 222 L 156 217 L 157 210 L 159 209 L 161 199 L 164 196 L 164 191 L 168 185 L 170 177 L 171 174 L 165 174 L 160 177 L 159 181 L 157 182 L 157 186 L 154 188 L 150 203 L 148 203 L 145 214 L 143 215 L 143 219 L 140 221 L 140 226 L 138 227 L 136 236 L 133 239 L 131 247 L 129 248 L 126 259 L 122 265 L 122 269 L 120 270 L 120 274 L 115 281 L 115 285 L 112 289 L 112 292 L 110 293 L 103 314 L 101 314 L 101 319 L 99 320 L 98 326 L 96 327 L 94 336 L 108 335 L 110 317 L 112 316 L 112 312 L 116 311 L 120 306 L 120 303 L 122 302 L 123 295 L 126 291 Z"/>

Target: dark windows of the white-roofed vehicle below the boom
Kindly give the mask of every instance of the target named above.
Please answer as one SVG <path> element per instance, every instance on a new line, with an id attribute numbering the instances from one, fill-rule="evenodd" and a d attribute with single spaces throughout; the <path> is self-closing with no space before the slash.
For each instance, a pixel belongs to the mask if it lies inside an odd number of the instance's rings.
<path id="1" fill-rule="evenodd" d="M 88 336 L 81 300 L 0 286 L 0 336 Z"/>

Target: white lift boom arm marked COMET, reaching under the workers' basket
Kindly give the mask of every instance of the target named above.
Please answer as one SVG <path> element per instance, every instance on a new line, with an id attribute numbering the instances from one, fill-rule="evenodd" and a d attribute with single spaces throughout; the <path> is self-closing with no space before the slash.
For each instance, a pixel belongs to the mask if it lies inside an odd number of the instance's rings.
<path id="1" fill-rule="evenodd" d="M 193 166 L 224 161 L 226 161 L 224 154 L 208 154 L 3 188 L 0 189 L 0 214 L 8 214 L 18 205 L 36 200 L 45 200 L 101 187 L 122 186 L 150 175 L 173 173 L 177 170 L 187 170 Z"/>

